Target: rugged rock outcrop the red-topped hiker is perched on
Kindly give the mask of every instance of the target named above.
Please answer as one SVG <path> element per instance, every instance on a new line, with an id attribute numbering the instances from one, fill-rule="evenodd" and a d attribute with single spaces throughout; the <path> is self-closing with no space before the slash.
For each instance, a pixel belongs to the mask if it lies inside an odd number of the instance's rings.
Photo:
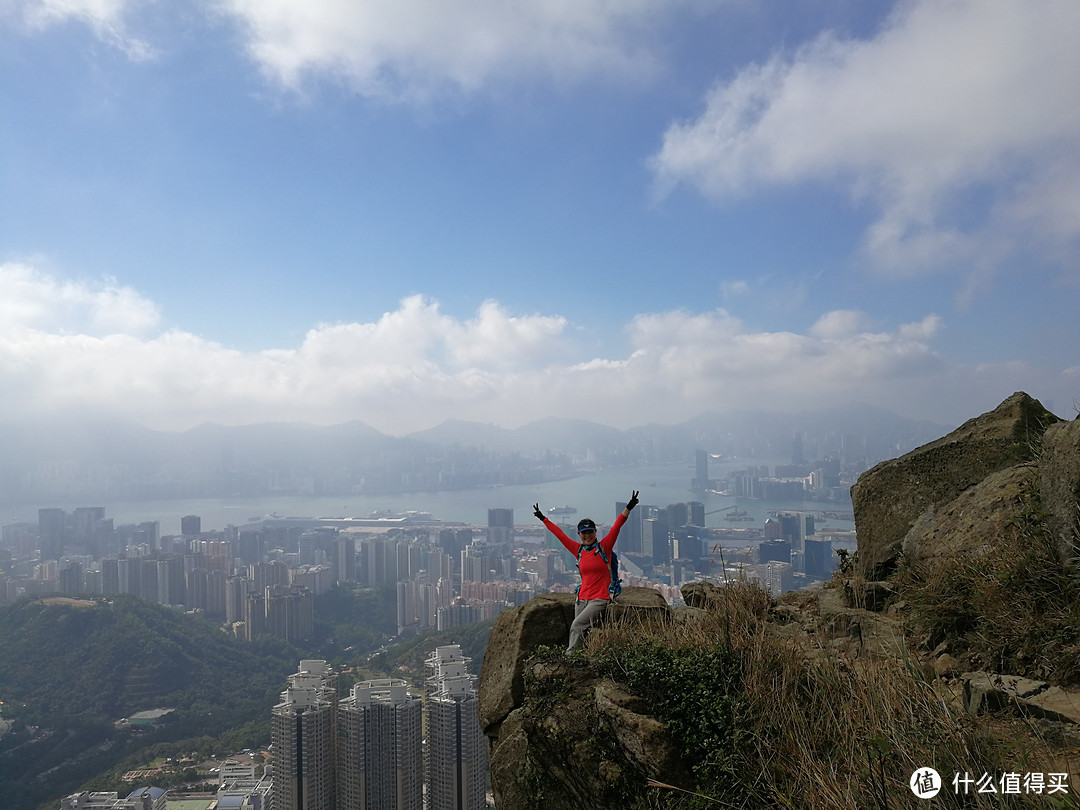
<path id="1" fill-rule="evenodd" d="M 608 625 L 672 621 L 657 591 L 627 588 Z M 491 743 L 491 788 L 500 808 L 619 807 L 648 775 L 689 782 L 666 727 L 642 714 L 625 689 L 540 646 L 563 648 L 572 594 L 544 594 L 500 613 L 480 676 L 481 725 Z"/>

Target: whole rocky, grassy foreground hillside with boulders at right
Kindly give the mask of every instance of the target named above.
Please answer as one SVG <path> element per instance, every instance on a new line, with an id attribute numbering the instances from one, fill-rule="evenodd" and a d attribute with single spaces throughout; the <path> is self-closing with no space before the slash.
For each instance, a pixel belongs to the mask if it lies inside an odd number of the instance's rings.
<path id="1" fill-rule="evenodd" d="M 503 612 L 499 809 L 1076 807 L 1080 419 L 1016 393 L 852 501 L 858 553 L 818 591 L 625 589 L 570 656 L 571 595 Z"/>

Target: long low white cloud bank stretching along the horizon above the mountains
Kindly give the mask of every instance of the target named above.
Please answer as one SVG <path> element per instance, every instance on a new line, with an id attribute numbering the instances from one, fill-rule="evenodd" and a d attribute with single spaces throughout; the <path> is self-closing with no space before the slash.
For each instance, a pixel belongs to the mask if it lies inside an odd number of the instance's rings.
<path id="1" fill-rule="evenodd" d="M 1067 406 L 1080 377 L 951 363 L 933 348 L 933 314 L 885 327 L 827 312 L 800 335 L 756 332 L 725 310 L 646 313 L 625 325 L 623 354 L 596 356 L 564 315 L 484 301 L 456 319 L 413 296 L 373 322 L 323 324 L 297 347 L 243 352 L 156 332 L 158 308 L 109 280 L 0 265 L 0 418 L 82 413 L 166 430 L 359 419 L 404 434 L 447 418 L 516 427 L 550 416 L 626 428 L 850 401 L 949 423 L 1016 389 Z"/>

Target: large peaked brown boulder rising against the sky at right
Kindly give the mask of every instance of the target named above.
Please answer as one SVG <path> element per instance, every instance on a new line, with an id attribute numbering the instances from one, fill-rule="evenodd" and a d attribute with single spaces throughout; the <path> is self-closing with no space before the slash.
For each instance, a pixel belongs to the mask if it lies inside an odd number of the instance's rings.
<path id="1" fill-rule="evenodd" d="M 1037 459 L 1043 433 L 1057 421 L 1038 400 L 1018 392 L 947 436 L 863 473 L 851 487 L 858 572 L 874 580 L 888 576 L 920 515 L 991 473 Z"/>

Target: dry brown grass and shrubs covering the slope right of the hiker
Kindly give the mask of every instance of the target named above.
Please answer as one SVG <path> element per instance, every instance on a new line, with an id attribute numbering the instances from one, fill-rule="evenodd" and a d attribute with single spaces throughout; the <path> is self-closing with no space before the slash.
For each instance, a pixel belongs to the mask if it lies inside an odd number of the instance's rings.
<path id="1" fill-rule="evenodd" d="M 667 723 L 696 789 L 653 783 L 640 808 L 920 807 L 908 780 L 1047 770 L 1031 737 L 1009 744 L 964 714 L 914 659 L 845 658 L 827 639 L 767 632 L 773 602 L 755 584 L 717 591 L 696 621 L 608 625 L 589 665 L 627 685 Z M 940 807 L 1048 807 L 1045 796 L 957 795 Z"/>

